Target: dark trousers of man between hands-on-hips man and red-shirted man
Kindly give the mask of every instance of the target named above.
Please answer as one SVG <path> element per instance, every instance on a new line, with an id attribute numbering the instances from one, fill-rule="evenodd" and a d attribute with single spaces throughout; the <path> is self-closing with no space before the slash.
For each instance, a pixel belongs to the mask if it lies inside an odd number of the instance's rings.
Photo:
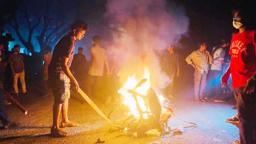
<path id="1" fill-rule="evenodd" d="M 220 98 L 221 91 L 221 81 L 222 71 L 210 70 L 208 72 L 207 80 L 207 97 L 213 97 L 217 95 Z"/>

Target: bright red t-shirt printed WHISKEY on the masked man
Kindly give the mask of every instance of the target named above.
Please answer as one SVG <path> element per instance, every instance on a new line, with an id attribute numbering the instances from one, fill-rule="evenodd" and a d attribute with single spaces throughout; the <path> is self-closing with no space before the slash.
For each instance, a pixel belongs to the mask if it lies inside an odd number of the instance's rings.
<path id="1" fill-rule="evenodd" d="M 255 31 L 234 34 L 231 39 L 230 72 L 234 88 L 243 87 L 256 72 Z"/>

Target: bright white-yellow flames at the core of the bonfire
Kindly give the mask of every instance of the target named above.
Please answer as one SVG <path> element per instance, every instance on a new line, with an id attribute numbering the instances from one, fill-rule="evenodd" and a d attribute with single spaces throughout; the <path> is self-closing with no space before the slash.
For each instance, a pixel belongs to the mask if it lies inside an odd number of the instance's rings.
<path id="1" fill-rule="evenodd" d="M 136 104 L 136 100 L 137 100 L 139 108 L 142 110 L 143 118 L 147 119 L 148 114 L 152 114 L 152 113 L 150 112 L 150 108 L 146 105 L 142 96 L 143 95 L 146 96 L 147 91 L 150 88 L 150 72 L 148 67 L 144 68 L 144 76 L 141 77 L 141 79 L 136 79 L 135 76 L 136 74 L 133 75 L 132 77 L 128 77 L 124 86 L 118 90 L 118 93 L 124 96 L 123 104 L 130 108 L 131 114 L 133 114 L 137 118 L 140 118 L 140 112 Z M 147 79 L 147 81 L 143 83 L 140 87 L 136 88 L 136 85 L 142 79 Z M 138 93 L 138 95 L 134 96 L 132 93 L 129 93 L 128 90 L 134 90 Z"/>

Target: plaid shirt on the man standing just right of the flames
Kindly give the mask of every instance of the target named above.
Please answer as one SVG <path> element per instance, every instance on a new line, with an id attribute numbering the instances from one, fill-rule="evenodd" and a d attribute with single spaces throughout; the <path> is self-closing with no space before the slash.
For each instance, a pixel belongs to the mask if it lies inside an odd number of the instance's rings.
<path id="1" fill-rule="evenodd" d="M 167 74 L 175 74 L 179 67 L 179 56 L 177 53 L 164 53 L 162 57 L 162 70 Z"/>

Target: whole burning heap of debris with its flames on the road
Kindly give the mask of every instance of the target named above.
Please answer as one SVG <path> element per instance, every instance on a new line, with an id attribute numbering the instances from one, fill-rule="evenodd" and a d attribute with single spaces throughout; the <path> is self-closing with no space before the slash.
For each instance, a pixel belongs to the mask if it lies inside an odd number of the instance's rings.
<path id="1" fill-rule="evenodd" d="M 163 136 L 172 131 L 168 126 L 168 120 L 172 114 L 176 115 L 172 109 L 160 105 L 159 98 L 150 87 L 148 79 L 149 71 L 146 69 L 144 78 L 140 82 L 134 77 L 128 77 L 124 87 L 118 91 L 124 96 L 123 103 L 119 108 L 114 108 L 108 117 L 112 117 L 112 114 L 120 108 L 129 107 L 130 112 L 124 119 L 115 122 L 111 131 L 118 130 L 122 135 L 133 137 Z"/>

